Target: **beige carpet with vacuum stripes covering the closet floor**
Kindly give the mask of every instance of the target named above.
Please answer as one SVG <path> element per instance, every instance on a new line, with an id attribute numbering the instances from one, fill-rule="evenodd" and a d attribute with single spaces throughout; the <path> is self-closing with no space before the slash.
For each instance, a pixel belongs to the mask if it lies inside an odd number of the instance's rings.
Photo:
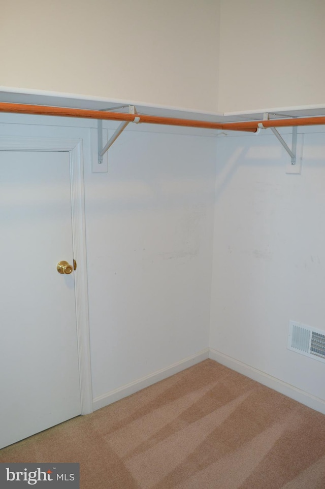
<path id="1" fill-rule="evenodd" d="M 324 489 L 325 416 L 212 360 L 0 450 L 82 489 Z"/>

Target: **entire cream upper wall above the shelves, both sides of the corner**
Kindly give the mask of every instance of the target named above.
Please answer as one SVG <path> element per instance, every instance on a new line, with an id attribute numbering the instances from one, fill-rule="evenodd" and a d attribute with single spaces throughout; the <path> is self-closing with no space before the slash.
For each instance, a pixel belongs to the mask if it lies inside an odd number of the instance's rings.
<path id="1" fill-rule="evenodd" d="M 13 0 L 0 83 L 208 112 L 325 105 L 324 18 L 323 0 Z"/>

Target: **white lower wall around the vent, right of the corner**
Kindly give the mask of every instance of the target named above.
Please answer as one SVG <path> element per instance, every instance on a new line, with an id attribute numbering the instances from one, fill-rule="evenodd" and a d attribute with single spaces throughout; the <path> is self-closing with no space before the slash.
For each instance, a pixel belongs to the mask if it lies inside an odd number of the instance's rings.
<path id="1" fill-rule="evenodd" d="M 286 349 L 290 319 L 325 331 L 325 133 L 312 131 L 301 175 L 269 130 L 218 140 L 210 347 L 324 401 L 324 364 Z"/>

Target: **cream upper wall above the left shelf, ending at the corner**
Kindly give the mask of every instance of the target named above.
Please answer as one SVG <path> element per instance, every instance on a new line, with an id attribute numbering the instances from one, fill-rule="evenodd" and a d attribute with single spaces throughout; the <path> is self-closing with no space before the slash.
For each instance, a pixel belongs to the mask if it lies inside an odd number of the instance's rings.
<path id="1" fill-rule="evenodd" d="M 2 86 L 215 111 L 219 0 L 13 0 Z"/>

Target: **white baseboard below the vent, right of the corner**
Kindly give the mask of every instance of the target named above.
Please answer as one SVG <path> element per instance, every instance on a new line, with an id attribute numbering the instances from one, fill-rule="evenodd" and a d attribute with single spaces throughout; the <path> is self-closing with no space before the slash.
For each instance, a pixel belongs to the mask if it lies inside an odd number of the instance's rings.
<path id="1" fill-rule="evenodd" d="M 230 369 L 245 375 L 246 377 L 249 377 L 252 380 L 256 380 L 256 382 L 259 382 L 260 384 L 266 385 L 267 387 L 270 387 L 271 389 L 276 390 L 277 392 L 284 394 L 295 401 L 305 404 L 305 406 L 315 409 L 315 411 L 325 414 L 325 401 L 308 394 L 304 390 L 300 390 L 293 385 L 287 384 L 276 377 L 272 377 L 261 370 L 254 369 L 253 367 L 239 362 L 238 360 L 235 360 L 235 358 L 225 355 L 212 348 L 210 348 L 209 358 L 211 358 L 211 360 L 215 360 L 221 365 L 224 365 L 225 367 L 229 367 Z"/>

